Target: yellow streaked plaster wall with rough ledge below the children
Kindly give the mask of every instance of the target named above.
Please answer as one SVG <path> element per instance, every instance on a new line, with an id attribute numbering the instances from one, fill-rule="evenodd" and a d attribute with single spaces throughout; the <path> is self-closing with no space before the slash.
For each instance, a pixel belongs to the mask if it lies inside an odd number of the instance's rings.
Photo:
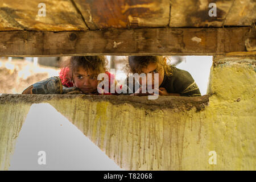
<path id="1" fill-rule="evenodd" d="M 0 169 L 9 167 L 30 105 L 47 102 L 124 169 L 255 170 L 255 63 L 214 57 L 209 97 L 3 94 Z"/>

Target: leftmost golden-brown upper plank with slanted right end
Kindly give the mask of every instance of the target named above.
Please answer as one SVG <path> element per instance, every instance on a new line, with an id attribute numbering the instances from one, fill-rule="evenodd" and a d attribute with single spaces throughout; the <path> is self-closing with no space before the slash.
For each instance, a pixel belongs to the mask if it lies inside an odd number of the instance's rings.
<path id="1" fill-rule="evenodd" d="M 44 3 L 46 16 L 39 16 Z M 39 7 L 38 7 L 39 6 Z M 0 1 L 0 31 L 88 30 L 82 17 L 69 0 Z"/>

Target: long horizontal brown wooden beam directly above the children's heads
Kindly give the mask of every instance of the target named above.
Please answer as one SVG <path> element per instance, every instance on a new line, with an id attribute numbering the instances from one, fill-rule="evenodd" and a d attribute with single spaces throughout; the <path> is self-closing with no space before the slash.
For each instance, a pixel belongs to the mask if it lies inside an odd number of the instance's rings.
<path id="1" fill-rule="evenodd" d="M 96 31 L 2 31 L 0 56 L 256 55 L 250 27 L 139 28 Z"/>

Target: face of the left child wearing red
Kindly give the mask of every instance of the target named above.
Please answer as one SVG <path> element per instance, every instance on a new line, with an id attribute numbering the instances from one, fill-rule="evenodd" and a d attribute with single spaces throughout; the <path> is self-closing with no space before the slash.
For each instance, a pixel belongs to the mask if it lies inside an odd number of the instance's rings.
<path id="1" fill-rule="evenodd" d="M 98 80 L 97 75 L 92 75 L 90 70 L 79 68 L 73 75 L 73 81 L 82 93 L 93 93 L 97 91 Z"/>

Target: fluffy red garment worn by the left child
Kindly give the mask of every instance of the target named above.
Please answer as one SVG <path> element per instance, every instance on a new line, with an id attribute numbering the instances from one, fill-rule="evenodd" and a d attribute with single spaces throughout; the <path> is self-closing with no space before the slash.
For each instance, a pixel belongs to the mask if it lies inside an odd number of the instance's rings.
<path id="1" fill-rule="evenodd" d="M 105 72 L 108 76 L 109 76 L 109 92 L 110 92 L 110 86 L 111 84 L 115 83 L 115 76 L 111 73 L 109 73 L 108 71 Z M 69 77 L 69 68 L 68 67 L 64 67 L 61 68 L 60 73 L 59 73 L 59 77 L 61 80 L 62 85 L 64 85 L 65 87 L 72 87 L 74 86 L 74 84 L 71 82 L 71 78 Z M 122 89 L 122 85 L 120 86 L 120 88 Z M 111 95 L 112 93 L 103 93 L 104 95 Z M 100 93 L 98 93 L 100 94 Z M 116 91 L 114 93 L 118 94 Z"/>

